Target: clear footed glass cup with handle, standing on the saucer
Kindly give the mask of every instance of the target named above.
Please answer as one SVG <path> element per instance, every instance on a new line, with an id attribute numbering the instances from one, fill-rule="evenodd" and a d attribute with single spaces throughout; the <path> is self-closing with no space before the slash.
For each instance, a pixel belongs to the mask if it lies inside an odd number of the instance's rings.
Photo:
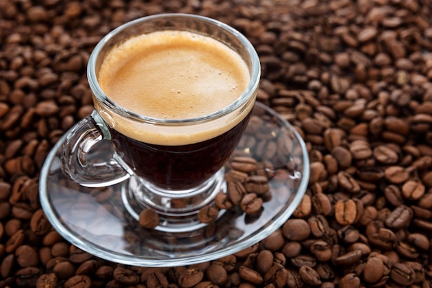
<path id="1" fill-rule="evenodd" d="M 166 30 L 211 37 L 239 55 L 249 76 L 241 95 L 219 111 L 183 119 L 139 114 L 110 99 L 99 84 L 101 64 L 109 52 L 132 37 Z M 130 21 L 106 35 L 90 55 L 88 81 L 95 110 L 66 137 L 61 168 L 82 186 L 103 187 L 128 180 L 124 204 L 134 218 L 144 208 L 155 209 L 164 218 L 157 229 L 190 229 L 199 209 L 224 189 L 224 164 L 248 124 L 259 77 L 259 58 L 252 44 L 224 23 L 184 14 Z M 132 137 L 131 129 L 134 135 L 151 135 L 149 141 Z M 172 144 L 173 139 L 183 140 Z M 105 142 L 113 147 L 109 157 L 110 149 L 100 148 Z M 91 151 L 105 160 L 90 159 L 90 154 L 95 157 Z"/>

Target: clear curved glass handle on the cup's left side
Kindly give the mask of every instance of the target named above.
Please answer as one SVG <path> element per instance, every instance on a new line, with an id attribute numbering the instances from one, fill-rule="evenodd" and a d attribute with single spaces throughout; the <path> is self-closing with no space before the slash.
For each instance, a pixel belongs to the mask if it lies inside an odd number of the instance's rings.
<path id="1" fill-rule="evenodd" d="M 71 180 L 87 187 L 123 182 L 130 174 L 114 151 L 108 128 L 97 111 L 69 131 L 61 149 L 61 169 Z"/>

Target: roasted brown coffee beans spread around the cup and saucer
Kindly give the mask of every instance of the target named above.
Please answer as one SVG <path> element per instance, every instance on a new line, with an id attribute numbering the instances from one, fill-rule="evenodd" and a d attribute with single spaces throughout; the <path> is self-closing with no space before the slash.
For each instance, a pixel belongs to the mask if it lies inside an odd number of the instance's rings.
<path id="1" fill-rule="evenodd" d="M 39 171 L 92 110 L 95 44 L 161 12 L 252 41 L 258 100 L 300 132 L 311 178 L 253 247 L 188 267 L 116 265 L 53 231 Z M 0 287 L 432 287 L 431 19 L 431 0 L 0 0 Z"/>

